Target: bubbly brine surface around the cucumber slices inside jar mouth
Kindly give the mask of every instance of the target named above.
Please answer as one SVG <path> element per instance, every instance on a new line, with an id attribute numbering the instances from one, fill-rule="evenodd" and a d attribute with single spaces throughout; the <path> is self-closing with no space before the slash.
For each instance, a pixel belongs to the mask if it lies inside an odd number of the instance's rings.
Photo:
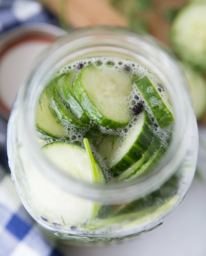
<path id="1" fill-rule="evenodd" d="M 92 58 L 82 59 L 82 60 L 78 60 L 73 63 L 70 63 L 69 65 L 59 70 L 54 78 L 68 72 L 78 73 L 82 70 L 82 68 L 88 65 L 94 65 L 98 69 L 105 69 L 107 70 L 107 72 L 111 72 L 111 73 L 119 72 L 121 73 L 121 75 L 125 74 L 125 76 L 129 76 L 132 81 L 135 81 L 138 78 L 141 78 L 143 76 L 147 76 L 149 80 L 152 82 L 152 84 L 157 88 L 157 91 L 161 95 L 163 101 L 166 103 L 167 107 L 172 112 L 172 106 L 171 106 L 169 97 L 161 81 L 159 81 L 158 78 L 152 73 L 150 73 L 147 69 L 139 65 L 139 63 L 133 62 L 131 60 L 120 59 L 115 57 L 113 58 L 92 57 Z M 107 180 L 110 180 L 112 177 L 111 177 L 109 168 L 105 164 L 105 162 L 102 160 L 102 157 L 96 151 L 96 147 L 98 147 L 98 145 L 101 144 L 101 136 L 95 133 L 91 129 L 91 127 L 98 126 L 98 131 L 100 131 L 102 135 L 108 134 L 113 136 L 119 136 L 122 138 L 122 141 L 126 136 L 130 136 L 130 131 L 132 131 L 134 124 L 136 123 L 137 119 L 141 114 L 141 111 L 143 108 L 142 102 L 144 101 L 140 93 L 138 92 L 138 89 L 135 83 L 133 84 L 133 91 L 130 97 L 128 97 L 127 101 L 128 101 L 127 102 L 128 111 L 131 112 L 132 115 L 131 115 L 130 122 L 123 127 L 119 127 L 117 129 L 109 129 L 108 127 L 102 127 L 100 125 L 92 123 L 92 121 L 91 121 L 91 126 L 78 127 L 69 123 L 62 122 L 62 125 L 64 126 L 64 129 L 68 134 L 68 138 L 57 139 L 57 138 L 49 137 L 39 133 L 39 136 L 42 139 L 41 142 L 43 141 L 43 144 L 44 144 L 44 143 L 49 143 L 54 141 L 67 141 L 67 142 L 72 142 L 72 143 L 76 143 L 83 146 L 83 138 L 86 136 L 89 137 L 90 142 L 94 141 L 94 143 L 91 144 L 93 154 L 95 158 L 97 158 L 98 162 L 100 162 L 101 167 L 105 170 Z M 157 102 L 155 102 L 155 99 L 153 103 L 157 104 Z M 161 129 L 161 127 L 158 125 L 158 122 L 156 121 L 155 117 L 153 117 L 153 114 L 151 113 L 150 109 L 147 107 L 146 104 L 144 104 L 144 110 L 149 114 L 149 118 L 152 123 L 152 132 L 161 139 L 162 146 L 167 148 L 168 141 L 172 132 L 172 127 L 169 126 L 167 127 L 167 129 L 164 129 L 164 130 Z"/>

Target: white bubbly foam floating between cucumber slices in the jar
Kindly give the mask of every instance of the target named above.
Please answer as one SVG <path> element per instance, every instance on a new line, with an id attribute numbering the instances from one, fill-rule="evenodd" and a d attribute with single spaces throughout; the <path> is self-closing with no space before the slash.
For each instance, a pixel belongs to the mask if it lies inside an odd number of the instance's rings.
<path id="1" fill-rule="evenodd" d="M 106 69 L 111 72 L 114 70 L 117 70 L 119 72 L 123 72 L 125 75 L 129 75 L 133 81 L 138 80 L 139 78 L 143 76 L 148 76 L 149 78 L 152 78 L 152 83 L 155 85 L 157 91 L 161 94 L 164 94 L 165 90 L 162 84 L 154 77 L 152 74 L 148 72 L 147 69 L 139 65 L 138 63 L 135 63 L 131 60 L 127 59 L 121 59 L 117 57 L 92 57 L 87 58 L 83 60 L 77 60 L 73 63 L 70 63 L 66 67 L 62 68 L 57 76 L 61 75 L 65 72 L 72 72 L 72 70 L 75 70 L 77 73 L 81 72 L 82 68 L 93 65 L 97 69 Z M 153 92 L 152 87 L 147 88 L 147 93 Z M 162 95 L 161 95 L 162 96 Z M 119 136 L 121 138 L 121 141 L 124 141 L 125 138 L 130 136 L 130 133 L 134 127 L 134 125 L 138 122 L 139 116 L 141 116 L 141 113 L 143 111 L 146 111 L 149 116 L 149 120 L 151 121 L 151 130 L 153 133 L 158 136 L 162 141 L 162 146 L 167 147 L 168 146 L 168 138 L 170 138 L 173 127 L 170 126 L 165 130 L 162 130 L 159 126 L 158 122 L 156 121 L 156 118 L 153 116 L 153 113 L 151 113 L 151 110 L 148 108 L 147 103 L 144 102 L 144 99 L 142 98 L 140 92 L 138 91 L 138 88 L 136 86 L 136 83 L 133 84 L 133 91 L 131 97 L 128 99 L 128 111 L 131 113 L 131 121 L 125 125 L 124 127 L 118 128 L 118 129 L 108 129 L 107 127 L 102 127 L 97 125 L 94 122 L 90 122 L 90 126 L 95 126 L 98 131 L 100 131 L 102 134 L 105 135 L 113 135 L 113 136 Z M 150 104 L 151 106 L 159 106 L 159 108 L 162 108 L 162 103 L 160 100 L 158 100 L 156 97 L 150 97 Z M 82 147 L 84 147 L 83 139 L 86 136 L 87 132 L 89 132 L 89 127 L 77 127 L 75 125 L 71 124 L 65 124 L 64 125 L 65 131 L 68 133 L 68 138 L 60 138 L 55 139 L 55 141 L 67 141 L 72 142 L 75 144 L 78 144 Z M 54 139 L 50 139 L 52 141 Z M 49 140 L 47 140 L 49 141 Z M 97 159 L 97 161 L 100 163 L 100 166 L 105 169 L 105 173 L 108 180 L 112 179 L 112 173 L 108 169 L 108 167 L 105 164 L 104 159 L 98 154 L 96 148 L 91 145 L 92 147 L 92 153 L 94 154 L 94 157 Z"/>

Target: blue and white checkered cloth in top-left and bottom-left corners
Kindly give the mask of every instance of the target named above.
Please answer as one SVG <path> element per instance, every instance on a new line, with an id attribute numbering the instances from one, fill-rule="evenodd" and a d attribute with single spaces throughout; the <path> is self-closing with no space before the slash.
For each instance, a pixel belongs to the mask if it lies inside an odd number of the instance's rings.
<path id="1" fill-rule="evenodd" d="M 33 0 L 0 0 L 0 34 L 32 22 L 58 24 L 57 19 Z M 1 120 L 0 120 L 1 121 Z M 60 256 L 23 208 L 5 164 L 4 127 L 0 122 L 0 256 Z"/>

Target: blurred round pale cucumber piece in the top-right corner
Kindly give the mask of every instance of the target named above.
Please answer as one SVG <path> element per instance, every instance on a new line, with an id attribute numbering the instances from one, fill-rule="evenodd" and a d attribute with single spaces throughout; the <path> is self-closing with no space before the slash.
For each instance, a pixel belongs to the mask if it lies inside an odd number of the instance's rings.
<path id="1" fill-rule="evenodd" d="M 174 51 L 183 60 L 206 69 L 206 2 L 193 1 L 181 9 L 171 27 Z"/>

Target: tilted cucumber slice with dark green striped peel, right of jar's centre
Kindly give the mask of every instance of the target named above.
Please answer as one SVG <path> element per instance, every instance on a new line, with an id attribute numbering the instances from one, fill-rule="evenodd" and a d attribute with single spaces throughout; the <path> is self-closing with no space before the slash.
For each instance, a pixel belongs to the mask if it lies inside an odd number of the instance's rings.
<path id="1" fill-rule="evenodd" d="M 136 163 L 146 152 L 152 140 L 150 121 L 141 113 L 125 137 L 110 136 L 100 144 L 99 154 L 117 175 Z"/>

